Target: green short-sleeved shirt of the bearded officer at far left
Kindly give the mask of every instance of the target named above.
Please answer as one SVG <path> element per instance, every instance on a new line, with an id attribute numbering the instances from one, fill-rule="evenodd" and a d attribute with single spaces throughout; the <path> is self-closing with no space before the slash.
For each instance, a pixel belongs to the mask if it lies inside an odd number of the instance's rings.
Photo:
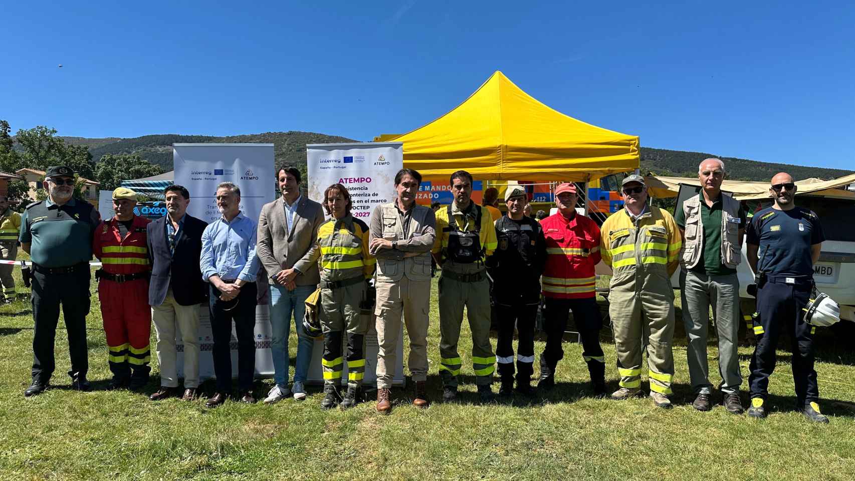
<path id="1" fill-rule="evenodd" d="M 21 215 L 18 240 L 30 243 L 30 257 L 39 266 L 70 267 L 91 261 L 92 235 L 99 222 L 89 202 L 32 202 Z"/>

